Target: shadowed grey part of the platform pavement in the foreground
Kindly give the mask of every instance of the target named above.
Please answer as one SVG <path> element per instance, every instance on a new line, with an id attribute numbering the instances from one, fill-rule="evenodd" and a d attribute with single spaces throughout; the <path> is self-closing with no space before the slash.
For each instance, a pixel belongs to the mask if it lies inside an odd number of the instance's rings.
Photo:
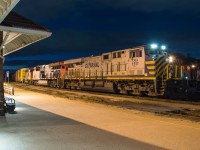
<path id="1" fill-rule="evenodd" d="M 1 150 L 162 149 L 17 102 L 0 117 Z"/>

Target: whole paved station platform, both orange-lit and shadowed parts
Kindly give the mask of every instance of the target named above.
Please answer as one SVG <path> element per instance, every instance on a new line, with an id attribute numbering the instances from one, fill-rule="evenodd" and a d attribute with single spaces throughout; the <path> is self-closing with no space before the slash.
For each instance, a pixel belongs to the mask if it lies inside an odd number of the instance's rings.
<path id="1" fill-rule="evenodd" d="M 199 149 L 197 122 L 17 88 L 12 97 L 16 113 L 0 120 L 2 150 Z"/>

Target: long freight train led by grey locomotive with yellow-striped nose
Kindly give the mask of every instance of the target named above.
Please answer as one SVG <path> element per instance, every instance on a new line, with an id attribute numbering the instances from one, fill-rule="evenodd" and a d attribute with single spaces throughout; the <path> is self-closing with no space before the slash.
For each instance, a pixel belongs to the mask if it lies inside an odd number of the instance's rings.
<path id="1" fill-rule="evenodd" d="M 166 98 L 199 95 L 197 73 L 194 79 L 192 67 L 188 68 L 175 59 L 164 46 L 144 45 L 22 68 L 16 71 L 15 81 Z"/>

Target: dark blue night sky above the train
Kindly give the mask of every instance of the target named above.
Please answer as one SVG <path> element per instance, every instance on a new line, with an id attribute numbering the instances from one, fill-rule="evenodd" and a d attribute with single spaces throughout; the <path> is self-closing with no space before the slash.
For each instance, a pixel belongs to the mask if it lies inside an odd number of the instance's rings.
<path id="1" fill-rule="evenodd" d="M 5 70 L 146 45 L 200 57 L 199 0 L 21 0 L 52 36 L 6 56 Z"/>

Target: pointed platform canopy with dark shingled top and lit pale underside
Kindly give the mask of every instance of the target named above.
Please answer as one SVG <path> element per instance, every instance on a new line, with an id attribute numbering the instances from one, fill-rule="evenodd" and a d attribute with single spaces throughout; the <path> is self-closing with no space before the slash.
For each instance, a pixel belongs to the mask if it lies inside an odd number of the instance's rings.
<path id="1" fill-rule="evenodd" d="M 0 31 L 3 31 L 3 42 L 0 45 L 3 56 L 51 35 L 45 27 L 13 11 L 0 24 Z"/>

